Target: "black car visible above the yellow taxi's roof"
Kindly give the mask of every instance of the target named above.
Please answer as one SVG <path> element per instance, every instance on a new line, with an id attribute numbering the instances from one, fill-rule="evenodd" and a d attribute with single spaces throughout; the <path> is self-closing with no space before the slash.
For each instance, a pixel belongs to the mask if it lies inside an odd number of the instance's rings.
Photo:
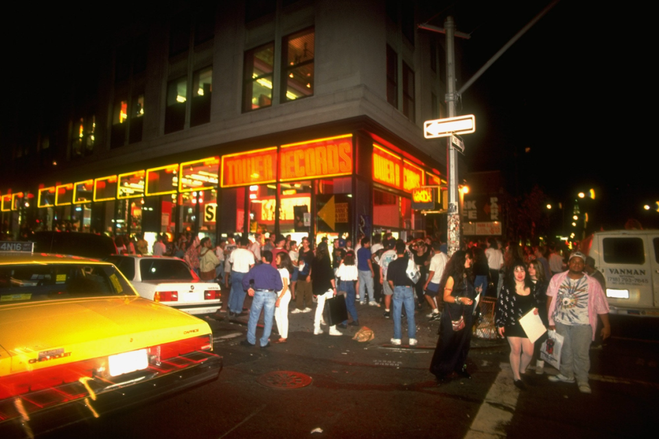
<path id="1" fill-rule="evenodd" d="M 40 253 L 72 254 L 93 259 L 104 259 L 117 253 L 111 237 L 94 233 L 41 230 L 28 240 L 34 242 L 34 251 Z"/>

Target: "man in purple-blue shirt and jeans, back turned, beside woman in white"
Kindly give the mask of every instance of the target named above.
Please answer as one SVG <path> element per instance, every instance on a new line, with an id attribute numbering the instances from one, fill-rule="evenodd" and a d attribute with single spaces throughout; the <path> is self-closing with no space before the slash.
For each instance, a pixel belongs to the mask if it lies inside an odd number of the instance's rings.
<path id="1" fill-rule="evenodd" d="M 273 318 L 275 316 L 275 302 L 277 293 L 284 288 L 281 275 L 270 263 L 273 261 L 273 252 L 264 250 L 261 254 L 262 264 L 255 265 L 242 278 L 242 287 L 247 294 L 253 297 L 252 307 L 249 310 L 247 322 L 247 340 L 240 342 L 242 346 L 256 344 L 256 324 L 259 322 L 261 310 L 263 313 L 263 336 L 260 340 L 261 348 L 270 347 L 270 333 L 273 331 Z"/>

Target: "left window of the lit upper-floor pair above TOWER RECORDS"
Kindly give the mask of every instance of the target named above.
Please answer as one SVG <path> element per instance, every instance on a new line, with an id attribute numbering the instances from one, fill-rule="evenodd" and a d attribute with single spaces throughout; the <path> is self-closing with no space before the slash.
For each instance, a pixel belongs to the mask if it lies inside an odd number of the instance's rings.
<path id="1" fill-rule="evenodd" d="M 275 43 L 245 52 L 243 111 L 273 104 L 273 61 Z"/>

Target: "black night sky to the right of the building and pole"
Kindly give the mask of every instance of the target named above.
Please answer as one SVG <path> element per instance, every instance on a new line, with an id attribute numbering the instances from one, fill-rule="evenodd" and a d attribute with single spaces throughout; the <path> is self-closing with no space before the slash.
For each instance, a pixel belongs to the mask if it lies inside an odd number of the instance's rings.
<path id="1" fill-rule="evenodd" d="M 456 1 L 450 12 L 472 36 L 459 41 L 458 88 L 549 3 Z M 650 16 L 637 1 L 559 1 L 463 94 L 458 114 L 476 115 L 463 137 L 470 170 L 501 169 L 511 193 L 537 184 L 556 202 L 592 187 L 594 221 L 659 226 L 659 213 L 643 210 L 659 200 Z"/>

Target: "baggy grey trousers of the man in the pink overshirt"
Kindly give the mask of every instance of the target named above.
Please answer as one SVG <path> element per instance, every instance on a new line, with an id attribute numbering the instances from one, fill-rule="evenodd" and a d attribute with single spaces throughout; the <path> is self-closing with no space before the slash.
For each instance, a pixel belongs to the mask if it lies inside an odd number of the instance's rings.
<path id="1" fill-rule="evenodd" d="M 561 375 L 588 384 L 590 370 L 590 324 L 562 324 L 556 322 L 556 332 L 565 337 L 561 351 Z"/>

